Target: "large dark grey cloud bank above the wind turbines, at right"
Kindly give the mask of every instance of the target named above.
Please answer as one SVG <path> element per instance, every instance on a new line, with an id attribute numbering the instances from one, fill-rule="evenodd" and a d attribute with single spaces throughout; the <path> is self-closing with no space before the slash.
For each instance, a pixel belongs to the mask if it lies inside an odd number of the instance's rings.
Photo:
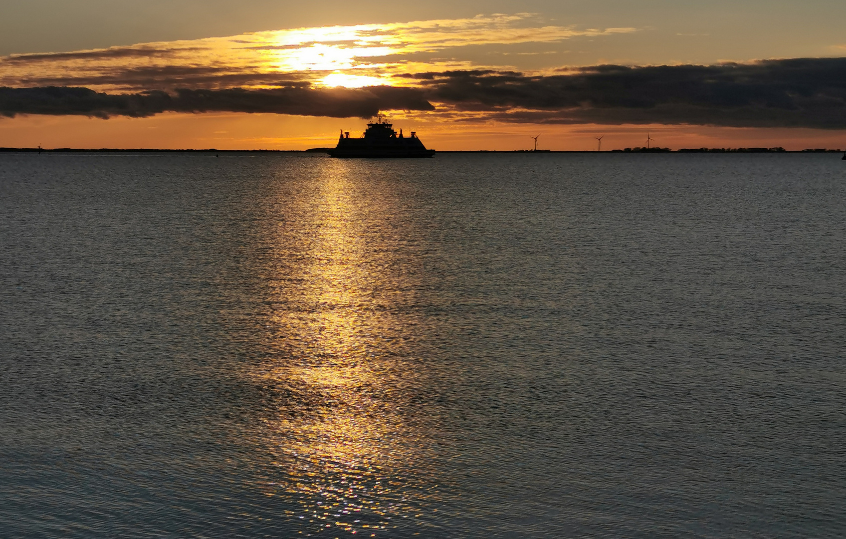
<path id="1" fill-rule="evenodd" d="M 846 129 L 846 58 L 408 76 L 433 102 L 514 122 Z"/>

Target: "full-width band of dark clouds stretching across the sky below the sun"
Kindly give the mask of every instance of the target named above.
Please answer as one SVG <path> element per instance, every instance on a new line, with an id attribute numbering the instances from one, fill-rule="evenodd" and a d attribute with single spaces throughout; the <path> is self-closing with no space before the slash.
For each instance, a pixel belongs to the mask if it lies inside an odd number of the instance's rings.
<path id="1" fill-rule="evenodd" d="M 192 74 L 200 75 L 202 82 L 195 82 L 201 86 L 222 82 L 213 72 Z M 245 76 L 254 79 L 256 75 Z M 0 115 L 83 114 L 107 118 L 168 111 L 227 111 L 366 118 L 380 110 L 431 111 L 434 102 L 443 113 L 458 112 L 464 118 L 470 113 L 476 120 L 533 124 L 846 129 L 846 58 L 715 66 L 605 65 L 551 76 L 492 70 L 404 76 L 418 87 L 315 88 L 301 80 L 266 80 L 266 85 L 284 87 L 166 92 L 147 86 L 150 91 L 133 94 L 96 93 L 66 86 L 0 88 Z M 239 84 L 237 78 L 226 81 Z"/>

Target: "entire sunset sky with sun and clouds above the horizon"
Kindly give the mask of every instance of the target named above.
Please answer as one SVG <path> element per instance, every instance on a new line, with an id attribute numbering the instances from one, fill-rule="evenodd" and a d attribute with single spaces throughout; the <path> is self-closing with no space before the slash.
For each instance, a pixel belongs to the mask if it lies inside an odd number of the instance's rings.
<path id="1" fill-rule="evenodd" d="M 846 147 L 842 0 L 3 3 L 0 146 Z"/>

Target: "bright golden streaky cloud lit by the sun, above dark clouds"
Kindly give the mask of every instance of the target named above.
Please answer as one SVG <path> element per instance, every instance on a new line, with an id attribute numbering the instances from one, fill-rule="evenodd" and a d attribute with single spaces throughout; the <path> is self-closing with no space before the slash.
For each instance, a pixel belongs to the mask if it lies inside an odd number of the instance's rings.
<path id="1" fill-rule="evenodd" d="M 436 19 L 387 25 L 262 31 L 190 41 L 0 58 L 0 85 L 84 85 L 99 91 L 414 85 L 395 74 L 479 69 L 461 48 L 553 43 L 634 28 L 579 30 L 538 25 L 532 14 Z M 438 58 L 420 60 L 420 55 Z M 415 55 L 415 58 L 411 58 Z M 508 67 L 508 66 L 505 66 Z"/>

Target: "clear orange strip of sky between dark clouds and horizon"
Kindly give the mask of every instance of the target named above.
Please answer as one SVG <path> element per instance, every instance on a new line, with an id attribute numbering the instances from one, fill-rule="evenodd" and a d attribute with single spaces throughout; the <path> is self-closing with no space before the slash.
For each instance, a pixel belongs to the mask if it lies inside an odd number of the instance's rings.
<path id="1" fill-rule="evenodd" d="M 406 133 L 416 130 L 427 147 L 449 150 L 593 151 L 645 146 L 647 132 L 661 147 L 846 148 L 846 134 L 827 129 L 750 129 L 679 125 L 532 125 L 489 122 L 483 125 L 393 120 Z M 0 146 L 45 148 L 161 148 L 229 150 L 305 150 L 334 146 L 340 129 L 365 129 L 359 118 L 320 118 L 278 114 L 164 113 L 151 118 L 108 120 L 85 117 L 19 116 L 0 120 Z"/>

